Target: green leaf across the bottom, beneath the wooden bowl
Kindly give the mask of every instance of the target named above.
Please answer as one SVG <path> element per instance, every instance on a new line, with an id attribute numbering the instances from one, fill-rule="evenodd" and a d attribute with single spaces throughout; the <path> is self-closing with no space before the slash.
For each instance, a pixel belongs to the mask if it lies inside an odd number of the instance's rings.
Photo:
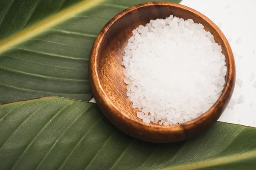
<path id="1" fill-rule="evenodd" d="M 216 122 L 184 142 L 154 144 L 117 130 L 94 103 L 56 97 L 0 107 L 2 170 L 254 170 L 256 128 Z"/>

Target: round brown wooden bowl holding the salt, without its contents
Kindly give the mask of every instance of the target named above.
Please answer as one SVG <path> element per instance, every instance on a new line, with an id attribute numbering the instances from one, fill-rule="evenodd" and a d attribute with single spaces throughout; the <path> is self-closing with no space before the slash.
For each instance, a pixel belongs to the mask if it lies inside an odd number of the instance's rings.
<path id="1" fill-rule="evenodd" d="M 204 25 L 214 35 L 226 57 L 227 76 L 218 101 L 206 113 L 192 121 L 172 126 L 145 124 L 137 118 L 137 109 L 126 96 L 125 76 L 121 65 L 124 47 L 132 30 L 150 20 L 173 14 Z M 221 30 L 203 14 L 176 3 L 150 2 L 125 9 L 113 17 L 100 31 L 93 45 L 89 61 L 89 77 L 93 96 L 110 122 L 123 132 L 148 142 L 167 143 L 191 138 L 207 130 L 226 108 L 235 84 L 235 62 L 230 45 Z"/>

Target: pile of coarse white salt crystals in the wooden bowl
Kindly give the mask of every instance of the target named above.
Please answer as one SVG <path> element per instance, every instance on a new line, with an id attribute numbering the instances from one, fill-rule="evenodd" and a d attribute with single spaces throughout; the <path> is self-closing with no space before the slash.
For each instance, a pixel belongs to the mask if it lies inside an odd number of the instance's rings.
<path id="1" fill-rule="evenodd" d="M 206 112 L 223 90 L 221 46 L 202 24 L 173 17 L 132 31 L 125 47 L 127 96 L 145 123 L 176 125 Z"/>

